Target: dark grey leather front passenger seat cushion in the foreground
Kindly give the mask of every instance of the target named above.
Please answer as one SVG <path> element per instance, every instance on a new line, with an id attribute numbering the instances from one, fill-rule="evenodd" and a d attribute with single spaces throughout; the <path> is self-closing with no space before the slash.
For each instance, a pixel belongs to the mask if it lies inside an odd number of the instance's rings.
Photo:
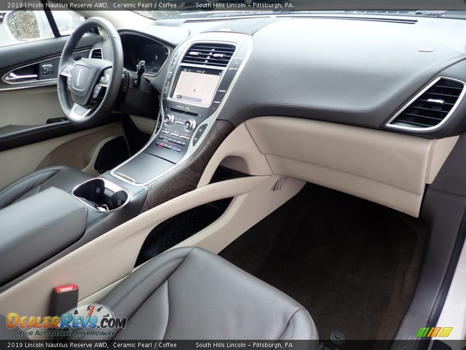
<path id="1" fill-rule="evenodd" d="M 107 340 L 318 340 L 311 316 L 298 302 L 197 247 L 155 257 L 99 303 L 128 319 L 126 328 Z"/>

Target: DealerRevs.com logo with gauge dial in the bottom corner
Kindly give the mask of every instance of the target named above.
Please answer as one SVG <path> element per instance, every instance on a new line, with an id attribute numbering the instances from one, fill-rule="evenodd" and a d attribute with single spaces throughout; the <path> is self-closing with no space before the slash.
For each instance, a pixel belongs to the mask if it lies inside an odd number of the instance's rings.
<path id="1" fill-rule="evenodd" d="M 105 336 L 126 327 L 126 318 L 119 318 L 106 306 L 82 305 L 61 316 L 20 316 L 9 313 L 6 327 L 18 328 L 23 336 Z"/>

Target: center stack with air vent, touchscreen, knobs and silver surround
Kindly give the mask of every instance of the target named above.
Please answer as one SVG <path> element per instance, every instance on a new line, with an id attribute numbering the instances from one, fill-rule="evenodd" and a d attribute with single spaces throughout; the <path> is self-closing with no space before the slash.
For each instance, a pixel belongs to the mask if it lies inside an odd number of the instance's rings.
<path id="1" fill-rule="evenodd" d="M 177 50 L 163 91 L 163 123 L 144 152 L 177 163 L 199 146 L 244 63 L 247 39 L 235 33 L 203 33 Z"/>

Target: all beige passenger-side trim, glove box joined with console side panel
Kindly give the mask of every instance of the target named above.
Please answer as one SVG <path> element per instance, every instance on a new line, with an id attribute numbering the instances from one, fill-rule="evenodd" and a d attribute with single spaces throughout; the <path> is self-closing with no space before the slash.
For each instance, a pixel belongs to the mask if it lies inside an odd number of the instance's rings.
<path id="1" fill-rule="evenodd" d="M 219 252 L 298 193 L 304 181 L 417 216 L 425 184 L 434 179 L 457 139 L 428 140 L 297 118 L 252 119 L 218 148 L 197 189 L 138 215 L 4 291 L 0 314 L 14 310 L 46 315 L 50 290 L 68 283 L 79 285 L 81 301 L 99 299 L 132 271 L 153 227 L 221 198 L 234 197 L 216 222 L 178 246 L 198 245 Z M 218 164 L 229 157 L 243 159 L 245 171 L 263 175 L 208 184 Z M 281 175 L 292 178 L 283 190 L 274 192 Z"/>

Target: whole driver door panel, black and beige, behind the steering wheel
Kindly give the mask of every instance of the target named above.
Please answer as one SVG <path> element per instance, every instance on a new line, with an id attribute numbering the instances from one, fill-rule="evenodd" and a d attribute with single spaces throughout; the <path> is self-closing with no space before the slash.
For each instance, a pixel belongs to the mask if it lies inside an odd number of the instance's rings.
<path id="1" fill-rule="evenodd" d="M 100 148 L 109 140 L 125 137 L 117 120 L 83 128 L 65 118 L 56 77 L 67 39 L 61 36 L 0 47 L 0 188 L 48 165 L 67 165 L 98 175 L 92 162 Z M 73 58 L 88 57 L 92 45 L 99 41 L 100 35 L 84 35 Z M 43 74 L 47 73 L 43 66 L 51 73 Z M 8 75 L 15 76 L 12 72 L 33 78 L 5 81 Z"/>

